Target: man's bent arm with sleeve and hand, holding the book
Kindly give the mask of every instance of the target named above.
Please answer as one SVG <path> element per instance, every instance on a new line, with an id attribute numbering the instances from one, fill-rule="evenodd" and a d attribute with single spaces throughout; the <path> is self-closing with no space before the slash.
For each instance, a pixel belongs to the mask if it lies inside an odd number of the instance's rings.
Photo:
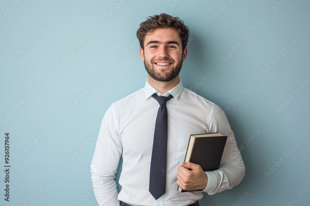
<path id="1" fill-rule="evenodd" d="M 219 132 L 227 135 L 222 166 L 218 170 L 203 172 L 197 164 L 183 163 L 178 167 L 177 184 L 184 190 L 203 189 L 204 192 L 213 195 L 238 185 L 244 177 L 245 166 L 228 120 L 219 106 L 214 106 L 208 125 L 209 133 Z"/>

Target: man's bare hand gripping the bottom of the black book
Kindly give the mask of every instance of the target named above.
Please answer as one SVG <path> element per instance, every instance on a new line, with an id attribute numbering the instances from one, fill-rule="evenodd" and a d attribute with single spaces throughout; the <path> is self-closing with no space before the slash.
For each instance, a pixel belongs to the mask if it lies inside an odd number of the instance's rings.
<path id="1" fill-rule="evenodd" d="M 176 183 L 183 190 L 204 190 L 208 183 L 208 176 L 201 166 L 191 162 L 183 162 L 178 167 L 177 179 Z"/>

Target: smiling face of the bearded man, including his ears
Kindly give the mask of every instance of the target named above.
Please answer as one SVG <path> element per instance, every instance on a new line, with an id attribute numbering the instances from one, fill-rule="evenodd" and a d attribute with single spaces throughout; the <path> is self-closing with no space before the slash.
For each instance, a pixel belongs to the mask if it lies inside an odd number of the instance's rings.
<path id="1" fill-rule="evenodd" d="M 145 36 L 140 56 L 151 78 L 167 82 L 178 76 L 187 48 L 182 52 L 181 38 L 175 29 L 161 28 Z"/>

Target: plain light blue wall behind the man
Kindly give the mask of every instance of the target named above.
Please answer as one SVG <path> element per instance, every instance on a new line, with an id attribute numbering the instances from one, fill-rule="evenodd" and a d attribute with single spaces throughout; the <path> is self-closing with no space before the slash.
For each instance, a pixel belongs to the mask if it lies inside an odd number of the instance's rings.
<path id="1" fill-rule="evenodd" d="M 183 85 L 196 85 L 197 94 L 222 109 L 229 106 L 226 115 L 246 166 L 238 186 L 204 194 L 200 204 L 309 204 L 309 1 L 69 1 L 0 2 L 0 205 L 71 206 L 87 194 L 82 205 L 97 204 L 90 163 L 100 123 L 113 102 L 144 86 L 135 33 L 147 16 L 161 12 L 188 25 Z M 16 51 L 21 45 L 28 48 Z M 227 52 L 233 54 L 223 60 Z M 264 71 L 266 64 L 272 68 Z M 208 80 L 200 84 L 201 77 Z M 85 97 L 70 106 L 84 90 Z M 4 201 L 6 132 L 10 202 Z M 74 160 L 60 169 L 68 156 Z"/>

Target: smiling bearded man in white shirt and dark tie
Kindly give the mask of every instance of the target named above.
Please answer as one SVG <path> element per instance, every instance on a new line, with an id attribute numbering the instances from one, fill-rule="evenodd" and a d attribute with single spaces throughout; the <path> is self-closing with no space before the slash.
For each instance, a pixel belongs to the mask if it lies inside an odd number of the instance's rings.
<path id="1" fill-rule="evenodd" d="M 144 88 L 113 103 L 102 120 L 91 163 L 100 206 L 194 206 L 201 191 L 211 195 L 231 189 L 244 177 L 224 112 L 184 88 L 179 79 L 188 33 L 183 21 L 167 14 L 150 16 L 140 24 L 137 37 L 148 79 Z M 165 99 L 166 105 L 158 99 Z M 199 165 L 183 163 L 189 136 L 211 132 L 228 136 L 221 167 L 204 172 Z M 122 190 L 117 194 L 114 177 L 121 154 Z M 200 191 L 181 193 L 178 185 Z"/>

